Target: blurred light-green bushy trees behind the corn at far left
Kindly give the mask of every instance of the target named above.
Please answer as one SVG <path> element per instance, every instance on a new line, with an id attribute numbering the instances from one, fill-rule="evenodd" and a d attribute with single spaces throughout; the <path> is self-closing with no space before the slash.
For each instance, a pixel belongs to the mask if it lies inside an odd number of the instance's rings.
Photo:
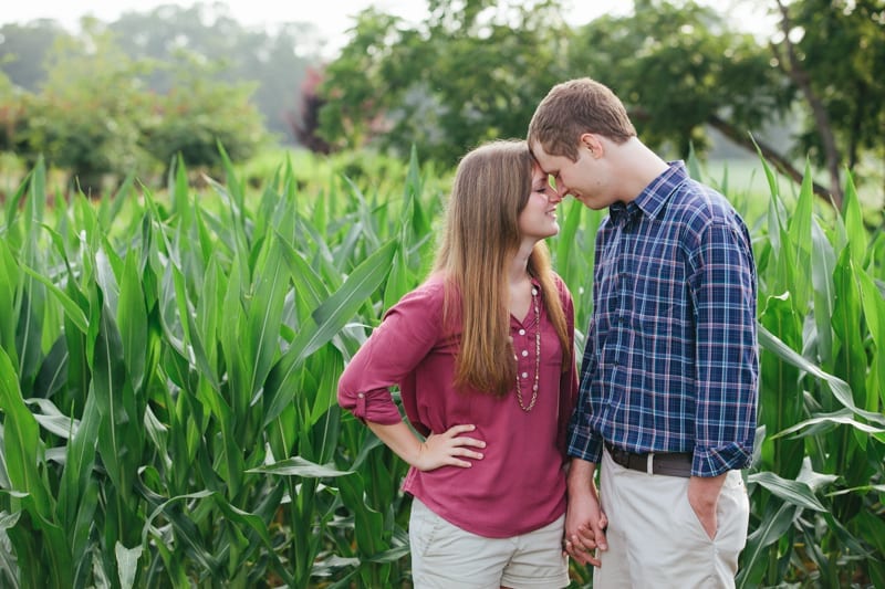
<path id="1" fill-rule="evenodd" d="M 149 181 L 177 155 L 218 173 L 219 143 L 248 158 L 264 140 L 249 103 L 251 88 L 217 82 L 215 64 L 183 53 L 174 67 L 178 90 L 156 95 L 145 90 L 144 78 L 157 63 L 128 59 L 97 21 L 84 25 L 83 35 L 58 39 L 39 94 L 19 102 L 9 96 L 4 104 L 22 105 L 11 143 L 31 165 L 42 155 L 69 170 L 84 192 L 100 193 L 105 176 Z"/>

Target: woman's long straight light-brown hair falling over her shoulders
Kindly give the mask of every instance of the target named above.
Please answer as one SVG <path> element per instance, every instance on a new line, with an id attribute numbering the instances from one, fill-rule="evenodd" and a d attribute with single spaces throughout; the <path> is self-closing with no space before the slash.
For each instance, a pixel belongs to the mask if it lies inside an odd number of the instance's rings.
<path id="1" fill-rule="evenodd" d="M 445 275 L 444 325 L 460 306 L 461 340 L 455 386 L 504 396 L 517 364 L 510 341 L 508 263 L 520 245 L 519 215 L 531 196 L 534 160 L 524 140 L 496 140 L 468 152 L 458 165 L 434 272 Z M 550 251 L 539 241 L 528 271 L 562 344 L 563 370 L 572 358 Z"/>

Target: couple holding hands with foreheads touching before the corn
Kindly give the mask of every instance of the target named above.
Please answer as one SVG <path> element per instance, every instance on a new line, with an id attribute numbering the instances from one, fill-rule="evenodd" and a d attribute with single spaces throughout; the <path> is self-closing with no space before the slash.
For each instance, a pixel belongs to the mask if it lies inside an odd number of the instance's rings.
<path id="1" fill-rule="evenodd" d="M 544 243 L 566 194 L 610 213 L 580 387 Z M 733 587 L 757 380 L 743 221 L 581 78 L 550 91 L 528 141 L 461 160 L 431 274 L 347 365 L 339 402 L 412 466 L 417 588 L 565 587 L 569 556 L 595 589 Z"/>

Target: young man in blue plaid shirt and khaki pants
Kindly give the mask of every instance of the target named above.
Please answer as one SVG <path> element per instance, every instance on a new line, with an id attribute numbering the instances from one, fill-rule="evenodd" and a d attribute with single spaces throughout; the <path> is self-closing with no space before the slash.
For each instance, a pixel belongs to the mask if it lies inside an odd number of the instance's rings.
<path id="1" fill-rule="evenodd" d="M 560 194 L 610 212 L 570 428 L 564 547 L 596 566 L 595 589 L 733 587 L 759 377 L 747 227 L 681 161 L 648 149 L 593 80 L 554 86 L 528 140 Z"/>

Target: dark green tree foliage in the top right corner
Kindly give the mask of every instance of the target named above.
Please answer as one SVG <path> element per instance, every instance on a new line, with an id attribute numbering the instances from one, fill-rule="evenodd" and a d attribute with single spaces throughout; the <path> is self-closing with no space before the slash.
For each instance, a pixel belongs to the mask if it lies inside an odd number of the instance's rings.
<path id="1" fill-rule="evenodd" d="M 864 178 L 863 152 L 885 156 L 885 2 L 882 0 L 775 0 L 782 34 L 772 42 L 775 63 L 792 81 L 809 116 L 798 148 L 824 166 L 841 206 L 840 168 Z"/>

